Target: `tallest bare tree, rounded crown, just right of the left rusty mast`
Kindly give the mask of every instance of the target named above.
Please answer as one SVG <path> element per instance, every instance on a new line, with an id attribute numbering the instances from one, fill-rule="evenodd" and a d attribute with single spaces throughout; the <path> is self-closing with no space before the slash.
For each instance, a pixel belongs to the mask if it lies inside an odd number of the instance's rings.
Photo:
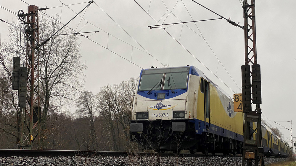
<path id="1" fill-rule="evenodd" d="M 39 23 L 41 42 L 56 32 L 61 24 L 55 20 L 48 21 L 48 17 L 42 15 Z M 58 18 L 56 18 L 58 20 Z M 69 29 L 62 29 L 59 34 L 65 33 Z M 74 99 L 74 94 L 78 94 L 82 87 L 83 69 L 85 65 L 81 63 L 79 53 L 80 44 L 74 35 L 53 36 L 49 42 L 40 48 L 40 78 L 41 98 L 43 103 L 43 114 L 41 118 L 42 127 L 46 128 L 46 116 L 49 103 L 63 105 L 67 101 Z"/>

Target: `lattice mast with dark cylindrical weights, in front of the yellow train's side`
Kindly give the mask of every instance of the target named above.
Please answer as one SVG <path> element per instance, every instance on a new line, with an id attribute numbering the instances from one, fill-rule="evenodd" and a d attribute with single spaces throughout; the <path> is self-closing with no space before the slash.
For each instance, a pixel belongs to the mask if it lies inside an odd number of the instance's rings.
<path id="1" fill-rule="evenodd" d="M 242 166 L 264 165 L 262 132 L 261 132 L 261 74 L 260 65 L 257 63 L 256 50 L 256 25 L 255 25 L 255 0 L 244 0 L 244 55 L 245 63 L 242 65 L 242 105 L 244 114 L 244 144 Z M 249 22 L 250 21 L 250 22 Z M 250 55 L 250 56 L 249 56 Z M 252 63 L 251 70 L 249 63 Z M 252 84 L 251 84 L 252 77 Z M 251 98 L 252 88 L 252 98 Z M 256 104 L 252 111 L 252 104 Z M 257 128 L 253 122 L 257 122 Z M 254 135 L 255 134 L 255 135 Z M 255 140 L 253 139 L 255 137 Z"/>

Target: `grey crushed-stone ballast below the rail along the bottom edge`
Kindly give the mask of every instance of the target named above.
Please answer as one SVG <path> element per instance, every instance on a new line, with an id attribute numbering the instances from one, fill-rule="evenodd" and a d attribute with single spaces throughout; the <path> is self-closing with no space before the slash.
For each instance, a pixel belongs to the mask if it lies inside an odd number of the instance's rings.
<path id="1" fill-rule="evenodd" d="M 264 158 L 265 164 L 281 162 L 287 158 Z M 156 166 L 156 165 L 242 165 L 242 157 L 0 157 L 0 166 L 8 165 L 32 165 L 32 166 L 55 166 L 55 165 L 137 165 L 137 166 Z"/>

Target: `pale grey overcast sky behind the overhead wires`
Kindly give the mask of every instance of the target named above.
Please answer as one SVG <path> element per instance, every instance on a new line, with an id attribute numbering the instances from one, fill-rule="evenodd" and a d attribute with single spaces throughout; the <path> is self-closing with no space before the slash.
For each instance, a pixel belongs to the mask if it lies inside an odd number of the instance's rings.
<path id="1" fill-rule="evenodd" d="M 241 0 L 196 1 L 243 25 Z M 64 24 L 89 4 L 79 0 L 1 0 L 0 19 L 6 22 L 11 22 L 12 19 L 18 21 L 14 14 L 2 7 L 15 13 L 20 9 L 27 13 L 28 4 L 25 2 L 39 8 L 50 8 L 45 11 L 46 14 L 58 14 Z M 76 4 L 81 2 L 85 3 Z M 65 6 L 70 4 L 76 5 Z M 62 5 L 63 7 L 58 7 Z M 295 0 L 256 1 L 257 56 L 262 76 L 262 117 L 271 125 L 288 129 L 290 122 L 287 121 L 290 120 L 296 129 L 293 105 L 296 92 L 295 6 Z M 230 96 L 233 96 L 233 93 L 241 93 L 241 65 L 244 65 L 243 29 L 229 24 L 225 19 L 218 19 L 218 15 L 191 0 L 94 1 L 80 16 L 83 16 L 83 19 L 76 17 L 68 26 L 78 32 L 100 31 L 86 34 L 94 42 L 85 37 L 79 37 L 78 40 L 82 42 L 82 60 L 87 66 L 84 71 L 85 89 L 94 94 L 98 93 L 101 86 L 119 84 L 131 77 L 139 77 L 142 68 L 163 65 L 194 65 Z M 205 19 L 218 20 L 167 25 L 163 26 L 165 30 L 148 27 L 157 23 Z M 0 22 L 1 41 L 8 42 L 7 29 L 8 24 Z M 282 126 L 274 121 L 280 121 L 278 123 Z M 290 131 L 281 129 L 281 132 L 289 142 Z M 296 132 L 293 135 L 295 134 Z M 293 139 L 295 141 L 295 138 Z"/>

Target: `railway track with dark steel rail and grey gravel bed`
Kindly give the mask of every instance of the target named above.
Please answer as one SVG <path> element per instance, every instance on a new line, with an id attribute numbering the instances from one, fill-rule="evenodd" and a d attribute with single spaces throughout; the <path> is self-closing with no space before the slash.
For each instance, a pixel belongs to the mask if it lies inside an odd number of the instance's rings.
<path id="1" fill-rule="evenodd" d="M 266 158 L 266 164 L 285 161 L 287 158 Z M 163 166 L 163 165 L 242 165 L 242 156 L 71 151 L 71 150 L 19 150 L 0 149 L 2 165 L 123 165 L 123 166 Z M 1 165 L 0 164 L 0 165 Z"/>

